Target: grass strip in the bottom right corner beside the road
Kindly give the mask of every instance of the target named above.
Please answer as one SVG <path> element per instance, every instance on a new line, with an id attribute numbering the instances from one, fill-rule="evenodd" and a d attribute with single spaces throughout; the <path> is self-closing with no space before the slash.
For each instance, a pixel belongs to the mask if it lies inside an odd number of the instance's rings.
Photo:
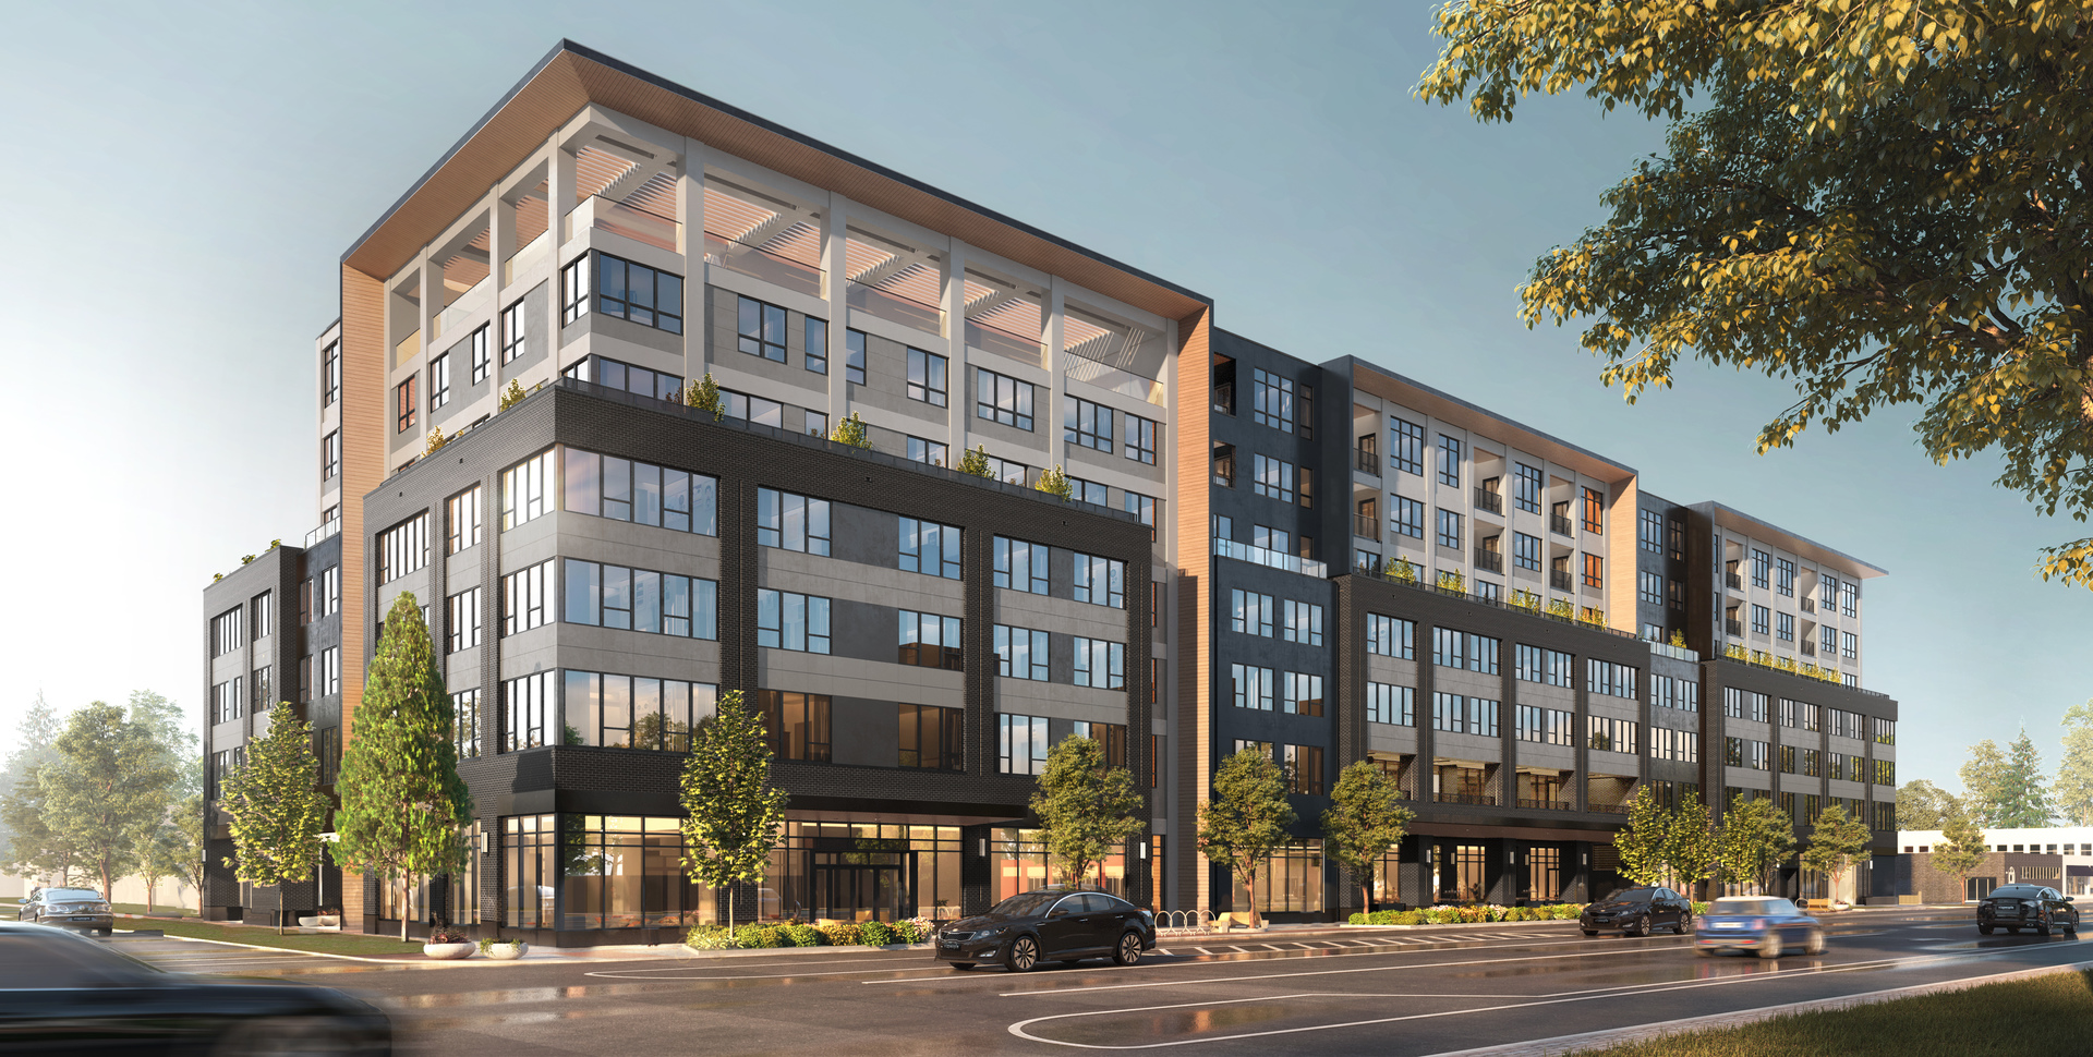
<path id="1" fill-rule="evenodd" d="M 2093 973 L 2051 973 L 1949 994 L 1676 1034 L 1580 1057 L 2030 1057 L 2087 1053 Z"/>

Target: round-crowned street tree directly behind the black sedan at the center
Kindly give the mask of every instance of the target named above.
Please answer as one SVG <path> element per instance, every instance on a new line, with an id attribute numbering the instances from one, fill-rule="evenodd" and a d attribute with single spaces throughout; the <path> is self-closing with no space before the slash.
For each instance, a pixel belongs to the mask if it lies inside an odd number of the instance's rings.
<path id="1" fill-rule="evenodd" d="M 1105 764 L 1105 747 L 1090 737 L 1065 737 L 1046 754 L 1046 770 L 1032 791 L 1046 856 L 1067 883 L 1080 885 L 1090 867 L 1147 829 L 1149 802 L 1124 766 Z M 1103 875 L 1099 875 L 1103 881 Z"/>

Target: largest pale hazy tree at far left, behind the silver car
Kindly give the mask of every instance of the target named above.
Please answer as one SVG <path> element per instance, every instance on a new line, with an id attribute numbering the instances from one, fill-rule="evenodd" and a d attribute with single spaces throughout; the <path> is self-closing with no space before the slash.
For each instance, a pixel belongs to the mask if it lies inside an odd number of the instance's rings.
<path id="1" fill-rule="evenodd" d="M 109 898 L 136 864 L 138 839 L 167 816 L 172 758 L 149 728 L 103 701 L 67 716 L 57 749 L 38 770 L 46 825 Z"/>

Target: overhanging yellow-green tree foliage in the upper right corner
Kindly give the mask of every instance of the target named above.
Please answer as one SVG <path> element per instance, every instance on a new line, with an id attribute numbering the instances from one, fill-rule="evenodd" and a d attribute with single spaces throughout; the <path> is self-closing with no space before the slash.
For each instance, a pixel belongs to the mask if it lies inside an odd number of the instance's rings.
<path id="1" fill-rule="evenodd" d="M 1545 253 L 1532 327 L 1589 320 L 1635 400 L 1683 358 L 1792 379 L 1766 452 L 1896 404 L 1936 463 L 2093 511 L 2087 40 L 2060 2 L 1467 0 L 1438 8 L 1425 100 L 1509 121 L 1582 90 L 1666 119 L 1666 149 Z M 2043 557 L 2093 586 L 2093 540 Z"/>

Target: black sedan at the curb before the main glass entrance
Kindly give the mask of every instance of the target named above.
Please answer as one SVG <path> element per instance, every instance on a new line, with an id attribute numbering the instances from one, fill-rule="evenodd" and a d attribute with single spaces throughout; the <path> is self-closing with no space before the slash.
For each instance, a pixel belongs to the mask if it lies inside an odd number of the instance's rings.
<path id="1" fill-rule="evenodd" d="M 1042 887 L 944 925 L 936 959 L 954 969 L 1003 965 L 1030 973 L 1042 961 L 1132 965 L 1143 950 L 1155 950 L 1155 915 L 1107 892 Z"/>

